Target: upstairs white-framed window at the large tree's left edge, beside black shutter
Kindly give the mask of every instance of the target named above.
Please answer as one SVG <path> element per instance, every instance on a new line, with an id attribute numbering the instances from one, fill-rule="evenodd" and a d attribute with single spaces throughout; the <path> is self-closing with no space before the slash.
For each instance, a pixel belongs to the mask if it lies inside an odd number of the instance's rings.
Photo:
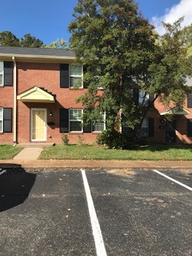
<path id="1" fill-rule="evenodd" d="M 70 66 L 70 87 L 82 88 L 82 66 Z"/>

